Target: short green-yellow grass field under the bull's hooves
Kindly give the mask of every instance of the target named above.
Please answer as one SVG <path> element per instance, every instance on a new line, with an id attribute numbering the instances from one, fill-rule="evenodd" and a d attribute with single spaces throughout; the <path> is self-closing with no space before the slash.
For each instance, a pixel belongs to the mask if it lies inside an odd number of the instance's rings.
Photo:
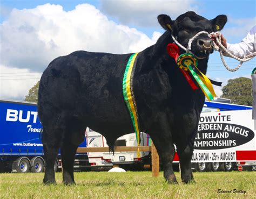
<path id="1" fill-rule="evenodd" d="M 44 186 L 43 175 L 0 174 L 0 198 L 256 198 L 256 172 L 197 172 L 192 184 L 182 184 L 179 173 L 179 183 L 168 184 L 162 172 L 160 177 L 151 172 L 81 172 L 75 173 L 74 186 L 64 186 L 61 173 L 56 174 L 57 185 Z"/>

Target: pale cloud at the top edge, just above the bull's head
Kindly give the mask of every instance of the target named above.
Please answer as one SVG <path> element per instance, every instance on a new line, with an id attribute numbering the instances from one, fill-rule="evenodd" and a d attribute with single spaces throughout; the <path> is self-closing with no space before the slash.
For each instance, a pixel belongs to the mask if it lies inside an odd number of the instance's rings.
<path id="1" fill-rule="evenodd" d="M 196 0 L 133 0 L 133 1 L 101 1 L 102 11 L 116 17 L 126 25 L 152 27 L 158 24 L 157 16 L 167 14 L 174 20 L 186 11 L 199 12 Z"/>

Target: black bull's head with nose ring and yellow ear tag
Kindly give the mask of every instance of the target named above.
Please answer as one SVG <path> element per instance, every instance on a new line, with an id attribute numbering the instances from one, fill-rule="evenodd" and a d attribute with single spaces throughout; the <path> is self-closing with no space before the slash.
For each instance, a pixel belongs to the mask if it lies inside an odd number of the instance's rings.
<path id="1" fill-rule="evenodd" d="M 208 33 L 220 31 L 227 22 L 226 15 L 218 15 L 212 20 L 197 15 L 195 12 L 186 12 L 176 20 L 167 15 L 158 16 L 159 24 L 177 38 L 179 43 L 187 47 L 188 41 L 200 31 Z M 200 34 L 191 44 L 191 52 L 204 58 L 213 52 L 213 41 L 207 34 Z"/>

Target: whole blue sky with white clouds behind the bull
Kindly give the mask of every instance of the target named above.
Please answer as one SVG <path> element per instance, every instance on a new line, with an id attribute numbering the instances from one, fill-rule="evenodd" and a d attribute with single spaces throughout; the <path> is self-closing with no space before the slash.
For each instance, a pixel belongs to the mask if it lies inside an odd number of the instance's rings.
<path id="1" fill-rule="evenodd" d="M 173 20 L 187 11 L 207 19 L 227 15 L 221 31 L 231 44 L 256 25 L 256 1 L 28 1 L 0 0 L 0 98 L 24 100 L 42 72 L 58 56 L 73 51 L 139 52 L 156 43 L 164 30 L 157 16 Z M 225 58 L 235 68 L 238 61 Z M 210 55 L 207 76 L 226 85 L 228 79 L 250 77 L 256 58 L 229 72 L 219 52 Z M 221 88 L 215 93 L 221 95 Z"/>

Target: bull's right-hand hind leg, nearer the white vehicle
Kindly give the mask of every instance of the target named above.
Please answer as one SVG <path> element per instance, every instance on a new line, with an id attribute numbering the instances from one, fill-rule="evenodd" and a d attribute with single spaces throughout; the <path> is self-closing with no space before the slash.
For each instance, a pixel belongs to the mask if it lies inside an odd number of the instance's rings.
<path id="1" fill-rule="evenodd" d="M 75 154 L 80 143 L 85 138 L 85 128 L 78 120 L 70 120 L 70 125 L 65 132 L 63 144 L 60 147 L 62 155 L 62 175 L 64 184 L 74 184 L 73 165 Z"/>

